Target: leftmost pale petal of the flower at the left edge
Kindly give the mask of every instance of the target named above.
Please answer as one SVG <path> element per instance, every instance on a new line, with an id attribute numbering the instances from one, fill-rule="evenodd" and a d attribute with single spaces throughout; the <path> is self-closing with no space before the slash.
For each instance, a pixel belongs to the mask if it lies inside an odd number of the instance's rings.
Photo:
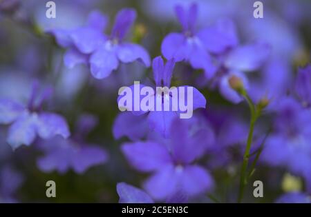
<path id="1" fill-rule="evenodd" d="M 11 123 L 25 110 L 23 105 L 10 99 L 0 99 L 0 123 Z"/>

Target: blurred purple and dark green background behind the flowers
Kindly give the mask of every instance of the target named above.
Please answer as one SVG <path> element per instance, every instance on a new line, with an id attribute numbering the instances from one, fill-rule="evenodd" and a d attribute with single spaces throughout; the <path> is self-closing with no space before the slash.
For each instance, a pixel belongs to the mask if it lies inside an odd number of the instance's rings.
<path id="1" fill-rule="evenodd" d="M 109 16 L 109 32 L 119 10 L 134 8 L 138 15 L 129 40 L 140 43 L 153 59 L 161 55 L 164 37 L 169 32 L 180 32 L 174 6 L 177 3 L 188 6 L 191 2 L 198 3 L 198 29 L 229 17 L 237 26 L 241 43 L 261 40 L 272 46 L 272 55 L 268 60 L 270 62 L 255 73 L 247 74 L 255 81 L 254 87 L 258 87 L 262 96 L 270 90 L 288 92 L 297 69 L 310 61 L 311 1 L 308 0 L 263 1 L 264 18 L 261 21 L 254 19 L 254 1 L 249 0 L 55 0 L 56 19 L 46 18 L 46 1 L 0 0 L 0 97 L 25 101 L 30 95 L 34 80 L 50 85 L 54 94 L 48 105 L 45 105 L 48 110 L 62 114 L 68 122 L 70 132 L 74 132 L 79 117 L 83 114 L 95 116 L 97 125 L 86 135 L 85 141 L 97 144 L 109 155 L 105 163 L 89 167 L 81 174 L 73 169 L 64 173 L 42 172 L 37 167 L 38 158 L 42 156 L 42 150 L 35 144 L 38 143 L 37 140 L 30 146 L 23 145 L 13 150 L 6 143 L 8 126 L 1 125 L 1 202 L 117 203 L 117 183 L 126 182 L 140 187 L 148 174 L 136 172 L 129 165 L 120 151 L 120 145 L 129 141 L 129 138 L 114 138 L 112 129 L 115 118 L 120 113 L 116 102 L 117 90 L 121 86 L 133 84 L 134 80 L 152 79 L 151 68 L 145 68 L 138 62 L 121 64 L 108 78 L 94 79 L 86 65 L 77 65 L 72 69 L 64 66 L 64 49 L 57 45 L 50 34 L 46 34 L 46 30 L 84 25 L 88 14 L 97 9 Z M 265 68 L 269 64 L 274 64 L 274 68 L 271 67 L 267 72 Z M 192 70 L 187 63 L 180 63 L 176 68 L 172 83 L 194 85 L 205 95 L 207 109 L 198 113 L 202 113 L 201 118 L 205 117 L 211 123 L 219 123 L 213 127 L 215 132 L 221 131 L 218 133 L 220 139 L 230 141 L 234 137 L 230 133 L 238 133 L 238 130 L 234 132 L 232 129 L 238 126 L 246 126 L 247 129 L 249 112 L 246 103 L 236 105 L 224 99 L 218 90 L 209 88 L 202 81 L 204 79 L 200 79 L 200 70 Z M 256 94 L 254 95 L 256 99 Z M 270 112 L 263 114 L 256 125 L 258 134 L 255 134 L 254 141 L 259 143 L 265 136 L 273 125 L 274 115 Z M 229 128 L 227 133 L 225 128 Z M 308 145 L 311 146 L 311 137 L 308 140 Z M 238 194 L 238 173 L 245 141 L 242 139 L 238 143 L 240 144 L 229 145 L 218 152 L 207 153 L 200 160 L 209 169 L 216 183 L 210 193 L 221 203 L 235 202 Z M 309 157 L 311 158 L 311 152 Z M 56 198 L 46 198 L 48 180 L 54 180 L 57 185 Z M 274 167 L 262 162 L 258 163 L 252 177 L 252 181 L 254 180 L 263 181 L 264 197 L 252 196 L 251 182 L 245 190 L 245 201 L 251 203 L 273 203 L 287 192 L 305 192 L 306 189 L 305 180 L 292 174 L 286 167 Z M 214 203 L 215 200 L 205 194 L 191 199 L 191 202 Z"/>

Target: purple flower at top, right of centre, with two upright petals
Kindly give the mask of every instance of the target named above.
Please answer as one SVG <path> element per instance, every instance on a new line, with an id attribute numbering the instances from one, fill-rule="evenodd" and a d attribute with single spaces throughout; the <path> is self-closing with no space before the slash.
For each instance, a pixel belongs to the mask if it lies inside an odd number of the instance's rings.
<path id="1" fill-rule="evenodd" d="M 191 4 L 189 10 L 176 6 L 175 12 L 182 25 L 182 33 L 173 32 L 164 38 L 161 45 L 162 54 L 167 59 L 188 61 L 193 68 L 204 70 L 205 75 L 210 78 L 216 72 L 216 67 L 211 55 L 207 52 L 204 42 L 205 33 L 195 30 L 198 16 L 197 5 Z"/>

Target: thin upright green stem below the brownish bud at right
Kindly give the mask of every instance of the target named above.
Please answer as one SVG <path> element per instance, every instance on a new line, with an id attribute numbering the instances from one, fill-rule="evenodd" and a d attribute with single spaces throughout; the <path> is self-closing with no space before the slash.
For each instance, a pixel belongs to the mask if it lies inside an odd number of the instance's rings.
<path id="1" fill-rule="evenodd" d="M 252 146 L 252 138 L 253 138 L 253 133 L 254 133 L 254 125 L 257 121 L 257 118 L 259 116 L 260 111 L 256 110 L 256 107 L 254 106 L 254 103 L 252 102 L 252 100 L 249 98 L 249 96 L 247 96 L 246 93 L 243 93 L 243 96 L 245 97 L 248 105 L 249 105 L 249 110 L 251 113 L 251 120 L 250 120 L 250 124 L 249 124 L 249 133 L 247 136 L 247 144 L 246 144 L 246 148 L 245 148 L 245 152 L 243 155 L 243 164 L 242 164 L 242 168 L 241 168 L 241 178 L 240 178 L 240 190 L 238 193 L 238 203 L 241 203 L 242 199 L 243 199 L 243 193 L 244 193 L 244 189 L 245 189 L 245 185 L 247 184 L 247 180 L 246 180 L 246 174 L 247 174 L 247 165 L 248 165 L 248 161 L 249 161 L 249 152 Z"/>

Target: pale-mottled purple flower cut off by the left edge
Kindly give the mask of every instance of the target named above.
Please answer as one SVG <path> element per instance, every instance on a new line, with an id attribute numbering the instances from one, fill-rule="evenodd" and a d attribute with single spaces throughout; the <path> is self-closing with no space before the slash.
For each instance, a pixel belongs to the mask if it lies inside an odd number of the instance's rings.
<path id="1" fill-rule="evenodd" d="M 7 141 L 13 149 L 20 145 L 30 145 L 36 136 L 44 139 L 55 135 L 68 138 L 70 132 L 64 118 L 58 114 L 42 111 L 42 105 L 50 94 L 50 88 L 40 93 L 39 83 L 35 82 L 28 105 L 11 99 L 0 100 L 0 123 L 10 124 Z"/>

